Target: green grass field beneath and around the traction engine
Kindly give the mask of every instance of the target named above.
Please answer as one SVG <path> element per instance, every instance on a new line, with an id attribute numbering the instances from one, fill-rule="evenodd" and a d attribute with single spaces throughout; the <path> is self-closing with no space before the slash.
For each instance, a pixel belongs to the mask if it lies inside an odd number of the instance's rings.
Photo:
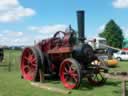
<path id="1" fill-rule="evenodd" d="M 50 92 L 30 85 L 29 81 L 21 79 L 20 51 L 5 51 L 9 55 L 8 62 L 11 62 L 11 72 L 7 68 L 0 68 L 0 96 L 65 96 L 55 92 Z M 7 58 L 5 58 L 7 59 Z M 116 68 L 110 68 L 110 71 L 127 71 L 128 62 L 120 62 Z M 51 86 L 64 89 L 59 81 L 50 81 Z M 104 86 L 94 87 L 83 81 L 80 88 L 72 90 L 72 93 L 66 96 L 121 96 L 121 82 L 108 79 Z"/>

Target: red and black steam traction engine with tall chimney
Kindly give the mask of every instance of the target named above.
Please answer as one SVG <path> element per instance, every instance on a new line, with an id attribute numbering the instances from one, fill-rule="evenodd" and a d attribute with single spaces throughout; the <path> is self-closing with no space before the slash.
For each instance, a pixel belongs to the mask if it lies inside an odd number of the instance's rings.
<path id="1" fill-rule="evenodd" d="M 21 58 L 21 74 L 30 81 L 43 81 L 46 76 L 59 76 L 68 88 L 78 88 L 83 77 L 94 85 L 105 81 L 101 74 L 107 71 L 99 66 L 94 50 L 84 42 L 84 11 L 77 12 L 78 37 L 69 27 L 67 32 L 58 31 L 50 39 L 42 40 L 24 49 Z"/>

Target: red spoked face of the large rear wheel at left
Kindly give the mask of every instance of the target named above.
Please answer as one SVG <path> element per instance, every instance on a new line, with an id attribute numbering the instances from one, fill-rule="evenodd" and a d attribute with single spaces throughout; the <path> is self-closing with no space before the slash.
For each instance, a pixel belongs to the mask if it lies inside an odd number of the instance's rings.
<path id="1" fill-rule="evenodd" d="M 21 73 L 26 80 L 33 80 L 37 71 L 37 58 L 32 49 L 26 48 L 21 59 Z"/>

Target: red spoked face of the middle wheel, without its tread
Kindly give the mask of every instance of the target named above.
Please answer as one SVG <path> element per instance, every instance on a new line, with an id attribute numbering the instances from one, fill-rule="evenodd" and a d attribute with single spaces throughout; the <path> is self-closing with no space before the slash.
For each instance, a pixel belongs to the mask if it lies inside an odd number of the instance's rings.
<path id="1" fill-rule="evenodd" d="M 60 73 L 61 81 L 63 85 L 68 89 L 75 88 L 77 86 L 78 78 L 79 78 L 77 69 L 74 69 L 76 68 L 76 66 L 74 66 L 73 68 L 72 65 L 73 65 L 72 62 L 65 61 L 61 67 L 61 73 Z M 68 81 L 69 79 L 73 82 Z"/>

